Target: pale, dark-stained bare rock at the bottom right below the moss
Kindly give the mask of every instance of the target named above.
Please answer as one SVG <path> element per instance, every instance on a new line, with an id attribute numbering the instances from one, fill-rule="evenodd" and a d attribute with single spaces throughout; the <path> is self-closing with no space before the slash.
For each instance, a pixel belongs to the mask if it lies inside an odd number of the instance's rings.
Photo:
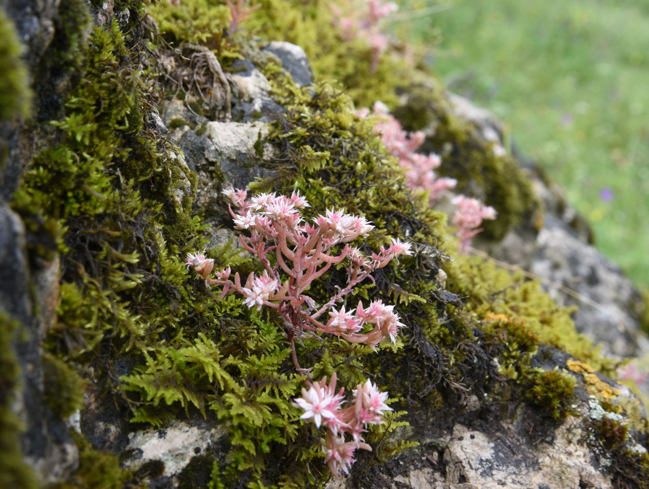
<path id="1" fill-rule="evenodd" d="M 543 358 L 548 357 L 545 361 Z M 564 353 L 542 350 L 535 362 L 567 366 Z M 418 440 L 413 452 L 378 468 L 369 479 L 354 478 L 328 484 L 328 489 L 385 487 L 393 489 L 482 489 L 482 488 L 613 488 L 614 478 L 607 473 L 611 461 L 601 457 L 589 444 L 593 425 L 615 414 L 604 411 L 596 396 L 579 374 L 577 397 L 572 403 L 574 416 L 556 426 L 548 418 L 525 405 L 513 407 L 503 417 L 498 403 L 485 397 L 465 401 L 463 409 L 448 413 L 447 422 L 431 423 L 426 412 L 419 412 L 413 432 Z M 614 402 L 635 400 L 628 388 L 620 388 Z M 635 401 L 637 402 L 637 401 Z M 509 406 L 509 409 L 512 409 Z M 584 420 L 587 420 L 584 423 Z M 638 447 L 645 453 L 644 447 Z"/>

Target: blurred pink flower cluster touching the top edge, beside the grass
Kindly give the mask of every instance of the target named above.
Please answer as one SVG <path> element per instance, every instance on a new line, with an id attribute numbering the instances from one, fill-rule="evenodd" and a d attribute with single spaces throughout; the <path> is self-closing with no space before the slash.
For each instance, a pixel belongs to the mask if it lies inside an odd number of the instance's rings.
<path id="1" fill-rule="evenodd" d="M 365 0 L 367 11 L 363 18 L 343 17 L 342 12 L 333 3 L 330 5 L 334 14 L 334 25 L 341 30 L 343 39 L 350 41 L 356 38 L 365 38 L 372 49 L 372 71 L 378 65 L 378 58 L 387 49 L 387 36 L 380 30 L 381 19 L 397 12 L 397 4 L 384 3 L 382 0 Z"/>

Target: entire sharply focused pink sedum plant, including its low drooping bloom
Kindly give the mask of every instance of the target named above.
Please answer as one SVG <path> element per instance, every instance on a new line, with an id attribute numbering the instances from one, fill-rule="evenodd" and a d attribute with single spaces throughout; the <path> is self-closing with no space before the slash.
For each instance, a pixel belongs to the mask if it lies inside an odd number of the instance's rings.
<path id="1" fill-rule="evenodd" d="M 411 245 L 393 239 L 387 248 L 381 246 L 371 256 L 363 256 L 358 248 L 349 245 L 374 229 L 363 217 L 332 209 L 310 223 L 301 211 L 310 205 L 298 192 L 290 197 L 262 193 L 247 200 L 245 190 L 230 187 L 223 194 L 230 200 L 228 208 L 236 228 L 247 232 L 239 235 L 241 245 L 260 261 L 263 273 L 251 272 L 242 283 L 238 272 L 230 278 L 232 270 L 228 267 L 215 272 L 213 278 L 214 260 L 204 253 L 188 254 L 186 265 L 207 287 L 221 285 L 221 296 L 235 291 L 245 298 L 243 304 L 248 307 L 258 311 L 271 307 L 280 314 L 295 370 L 306 377 L 306 388 L 294 405 L 304 410 L 302 419 L 327 429 L 322 444 L 332 473 L 347 473 L 356 449 L 371 450 L 363 440 L 365 427 L 381 423 L 383 412 L 391 411 L 385 403 L 387 392 L 380 392 L 368 380 L 352 391 L 352 405 L 343 408 L 344 389 L 336 392 L 336 374 L 329 384 L 326 377 L 313 381 L 311 369 L 299 364 L 295 340 L 311 337 L 324 341 L 326 335 L 336 335 L 373 349 L 386 338 L 396 342 L 404 324 L 393 305 L 376 300 L 365 307 L 359 301 L 356 308 L 345 310 L 345 305 L 338 304 L 363 280 L 373 281 L 371 272 L 385 267 L 397 256 L 410 255 Z M 326 303 L 316 304 L 308 295 L 313 281 L 345 259 L 349 259 L 347 284 L 339 287 Z"/>

